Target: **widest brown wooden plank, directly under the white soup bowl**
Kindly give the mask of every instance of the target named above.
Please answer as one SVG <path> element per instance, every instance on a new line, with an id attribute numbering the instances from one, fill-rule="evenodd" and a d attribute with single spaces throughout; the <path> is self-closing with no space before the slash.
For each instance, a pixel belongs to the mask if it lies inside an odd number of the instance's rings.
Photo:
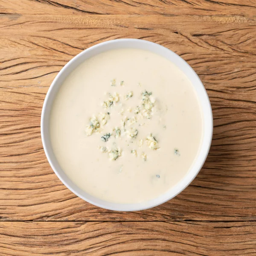
<path id="1" fill-rule="evenodd" d="M 2 15 L 0 24 L 1 220 L 256 220 L 255 20 Z M 198 177 L 143 212 L 111 212 L 77 198 L 52 172 L 40 138 L 41 107 L 58 71 L 82 49 L 115 38 L 144 38 L 180 54 L 204 82 L 213 109 L 212 148 Z"/>

